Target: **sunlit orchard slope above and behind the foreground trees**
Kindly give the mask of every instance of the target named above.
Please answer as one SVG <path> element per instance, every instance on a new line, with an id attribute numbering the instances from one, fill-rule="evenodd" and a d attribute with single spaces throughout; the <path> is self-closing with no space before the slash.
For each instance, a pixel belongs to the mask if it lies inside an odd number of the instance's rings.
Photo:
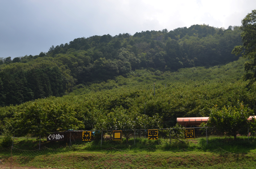
<path id="1" fill-rule="evenodd" d="M 158 115 L 160 125 L 170 127 L 175 125 L 177 117 L 208 116 L 214 105 L 236 106 L 243 101 L 254 111 L 255 88 L 245 88 L 246 82 L 242 81 L 244 61 L 240 58 L 223 66 L 185 68 L 177 72 L 136 70 L 127 77 L 78 85 L 63 97 L 51 96 L 3 107 L 1 120 L 5 117 L 14 120 L 19 112 L 31 111 L 35 106 L 40 109 L 56 106 L 60 111 L 72 110 L 73 117 L 83 123 L 83 129 L 97 127 L 109 115 L 117 119 Z"/>

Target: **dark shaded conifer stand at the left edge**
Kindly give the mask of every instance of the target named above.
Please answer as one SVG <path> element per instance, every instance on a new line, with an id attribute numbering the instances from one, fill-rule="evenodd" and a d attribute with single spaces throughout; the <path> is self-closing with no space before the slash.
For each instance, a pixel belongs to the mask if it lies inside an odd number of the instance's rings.
<path id="1" fill-rule="evenodd" d="M 0 72 L 1 106 L 65 94 L 67 80 L 58 67 Z"/>

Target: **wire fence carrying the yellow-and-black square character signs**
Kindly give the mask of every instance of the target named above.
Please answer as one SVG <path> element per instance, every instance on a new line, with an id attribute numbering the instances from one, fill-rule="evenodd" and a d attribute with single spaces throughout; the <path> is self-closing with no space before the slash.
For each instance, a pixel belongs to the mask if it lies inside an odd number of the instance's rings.
<path id="1" fill-rule="evenodd" d="M 185 138 L 184 132 L 187 129 L 193 129 L 193 138 L 204 138 L 205 144 L 208 144 L 208 137 L 212 136 L 225 136 L 228 133 L 216 132 L 213 129 L 207 127 L 192 127 L 192 128 L 169 128 L 169 129 L 135 129 L 135 130 L 88 130 L 88 131 L 67 131 L 67 132 L 56 132 L 59 136 L 62 137 L 58 141 L 57 136 L 54 134 L 47 135 L 47 137 L 38 137 L 38 138 L 29 138 L 29 137 L 12 137 L 12 141 L 15 142 L 16 139 L 23 139 L 23 147 L 30 146 L 33 140 L 38 140 L 39 145 L 38 149 L 41 147 L 49 147 L 53 149 L 58 149 L 62 147 L 71 147 L 73 145 L 81 145 L 87 142 L 93 144 L 97 149 L 102 148 L 102 145 L 108 144 L 111 142 L 111 145 L 122 145 L 123 143 L 129 143 L 130 145 L 136 146 L 137 143 L 141 143 L 141 140 L 148 139 L 148 131 L 155 130 L 157 137 L 154 137 L 153 140 L 160 140 L 163 143 L 171 143 L 174 140 L 182 140 Z M 113 138 L 113 132 L 122 132 L 119 134 L 119 139 Z M 83 132 L 90 132 L 90 139 L 83 139 Z M 248 141 L 249 136 L 252 136 L 250 131 L 247 133 Z M 50 137 L 51 136 L 51 137 Z M 55 137 L 55 140 L 51 140 L 52 136 Z M 238 137 L 240 135 L 238 134 Z M 3 137 L 3 136 L 2 136 Z M 13 146 L 13 144 L 12 144 Z"/>

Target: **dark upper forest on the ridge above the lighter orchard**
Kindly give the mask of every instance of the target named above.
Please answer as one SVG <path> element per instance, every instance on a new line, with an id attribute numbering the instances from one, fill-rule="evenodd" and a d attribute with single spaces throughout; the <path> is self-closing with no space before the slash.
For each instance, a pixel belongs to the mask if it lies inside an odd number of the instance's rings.
<path id="1" fill-rule="evenodd" d="M 183 70 L 189 73 L 199 69 L 195 66 L 204 66 L 200 69 L 209 71 L 212 66 L 238 60 L 239 56 L 231 54 L 231 51 L 234 46 L 241 45 L 240 35 L 239 27 L 223 29 L 193 25 L 173 31 L 164 29 L 114 37 L 109 34 L 82 37 L 52 46 L 48 52 L 39 55 L 15 57 L 13 60 L 1 58 L 0 106 L 63 96 L 73 90 L 68 97 L 78 94 L 79 90 L 88 93 L 155 81 L 151 78 L 170 83 L 167 78 L 172 78 L 179 69 L 187 68 Z M 215 77 L 211 74 L 206 79 Z M 132 90 L 130 92 L 133 93 Z"/>

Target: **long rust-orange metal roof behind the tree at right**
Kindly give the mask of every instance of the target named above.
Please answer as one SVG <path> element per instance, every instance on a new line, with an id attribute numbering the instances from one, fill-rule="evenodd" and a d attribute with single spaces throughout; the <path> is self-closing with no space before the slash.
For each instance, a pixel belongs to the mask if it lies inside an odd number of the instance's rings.
<path id="1" fill-rule="evenodd" d="M 252 121 L 253 118 L 256 119 L 256 116 L 250 116 L 247 120 Z M 177 118 L 177 123 L 180 125 L 200 125 L 201 123 L 207 123 L 209 121 L 209 117 L 181 117 Z"/>

